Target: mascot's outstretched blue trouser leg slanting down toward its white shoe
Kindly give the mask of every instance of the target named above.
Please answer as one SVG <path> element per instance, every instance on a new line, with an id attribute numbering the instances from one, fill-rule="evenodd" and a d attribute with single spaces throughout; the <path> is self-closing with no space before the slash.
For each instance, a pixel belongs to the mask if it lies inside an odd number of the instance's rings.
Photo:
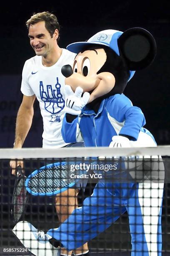
<path id="1" fill-rule="evenodd" d="M 68 250 L 74 250 L 91 240 L 115 222 L 126 211 L 120 205 L 120 195 L 112 196 L 103 183 L 97 183 L 93 194 L 75 209 L 59 228 L 47 234 L 59 240 Z"/>

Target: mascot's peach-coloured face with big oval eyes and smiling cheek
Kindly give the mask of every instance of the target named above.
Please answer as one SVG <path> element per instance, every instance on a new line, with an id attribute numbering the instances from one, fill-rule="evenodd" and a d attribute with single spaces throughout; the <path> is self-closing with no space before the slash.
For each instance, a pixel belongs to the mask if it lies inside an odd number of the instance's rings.
<path id="1" fill-rule="evenodd" d="M 110 72 L 97 74 L 106 59 L 102 48 L 78 53 L 72 68 L 73 74 L 65 79 L 65 84 L 70 85 L 73 91 L 80 86 L 83 92 L 91 92 L 88 103 L 110 92 L 115 85 L 114 75 Z"/>

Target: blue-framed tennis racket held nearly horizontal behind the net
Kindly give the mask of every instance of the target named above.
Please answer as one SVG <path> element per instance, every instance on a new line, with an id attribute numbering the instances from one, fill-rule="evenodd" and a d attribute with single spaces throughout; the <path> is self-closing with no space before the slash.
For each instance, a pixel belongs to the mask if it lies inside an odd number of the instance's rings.
<path id="1" fill-rule="evenodd" d="M 31 195 L 52 196 L 74 187 L 79 174 L 80 169 L 73 172 L 66 162 L 48 164 L 32 172 L 25 187 Z"/>

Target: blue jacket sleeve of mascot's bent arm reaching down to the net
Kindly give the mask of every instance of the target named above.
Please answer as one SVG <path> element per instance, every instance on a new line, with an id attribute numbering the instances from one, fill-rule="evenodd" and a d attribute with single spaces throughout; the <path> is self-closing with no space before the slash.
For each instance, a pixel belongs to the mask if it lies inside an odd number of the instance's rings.
<path id="1" fill-rule="evenodd" d="M 117 95 L 109 106 L 109 114 L 122 125 L 119 135 L 130 136 L 131 140 L 137 141 L 141 128 L 146 123 L 142 110 L 133 106 L 125 95 Z"/>

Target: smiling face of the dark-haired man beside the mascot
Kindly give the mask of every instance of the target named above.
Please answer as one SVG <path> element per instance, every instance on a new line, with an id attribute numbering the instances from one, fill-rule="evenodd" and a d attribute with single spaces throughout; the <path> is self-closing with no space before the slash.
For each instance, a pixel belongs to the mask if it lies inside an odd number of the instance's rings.
<path id="1" fill-rule="evenodd" d="M 45 28 L 45 21 L 40 21 L 30 25 L 28 37 L 30 38 L 30 45 L 38 56 L 47 56 L 56 44 L 58 31 L 55 30 L 53 36 Z"/>

